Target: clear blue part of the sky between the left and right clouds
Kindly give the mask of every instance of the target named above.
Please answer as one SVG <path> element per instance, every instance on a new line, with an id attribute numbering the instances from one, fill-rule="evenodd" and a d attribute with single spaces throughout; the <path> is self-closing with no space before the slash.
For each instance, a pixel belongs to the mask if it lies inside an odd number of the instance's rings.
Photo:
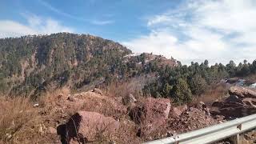
<path id="1" fill-rule="evenodd" d="M 0 18 L 26 25 L 26 17 L 52 18 L 63 26 L 72 27 L 74 33 L 94 34 L 115 41 L 149 33 L 146 18 L 176 6 L 169 0 L 10 0 L 1 2 Z"/>

